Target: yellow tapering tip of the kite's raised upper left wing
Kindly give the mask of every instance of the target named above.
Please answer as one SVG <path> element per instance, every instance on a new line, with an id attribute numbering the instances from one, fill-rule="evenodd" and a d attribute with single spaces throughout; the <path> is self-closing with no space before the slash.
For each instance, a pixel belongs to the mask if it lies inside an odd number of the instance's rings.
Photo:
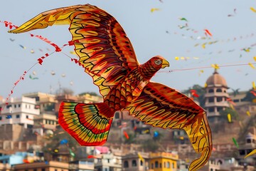
<path id="1" fill-rule="evenodd" d="M 81 7 L 82 10 L 80 10 Z M 53 24 L 70 25 L 71 21 L 75 16 L 77 16 L 81 12 L 85 13 L 85 11 L 90 11 L 90 8 L 93 9 L 96 7 L 90 7 L 90 5 L 87 4 L 87 6 L 75 5 L 45 11 L 41 14 L 38 14 L 33 19 L 26 21 L 26 23 L 22 24 L 18 28 L 9 31 L 9 33 L 23 33 L 26 31 L 53 26 Z"/>

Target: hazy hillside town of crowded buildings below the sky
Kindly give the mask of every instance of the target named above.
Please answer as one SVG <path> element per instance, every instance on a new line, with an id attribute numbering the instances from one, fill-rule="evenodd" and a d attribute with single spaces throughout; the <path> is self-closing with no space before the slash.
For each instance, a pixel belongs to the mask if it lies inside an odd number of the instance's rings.
<path id="1" fill-rule="evenodd" d="M 202 171 L 256 170 L 256 96 L 230 90 L 215 69 L 204 87 L 184 91 L 208 111 L 213 152 Z M 195 95 L 196 94 L 196 95 Z M 62 101 L 102 102 L 96 93 L 24 93 L 0 98 L 0 170 L 185 171 L 196 152 L 183 130 L 153 128 L 122 111 L 105 145 L 80 146 L 58 124 Z"/>

